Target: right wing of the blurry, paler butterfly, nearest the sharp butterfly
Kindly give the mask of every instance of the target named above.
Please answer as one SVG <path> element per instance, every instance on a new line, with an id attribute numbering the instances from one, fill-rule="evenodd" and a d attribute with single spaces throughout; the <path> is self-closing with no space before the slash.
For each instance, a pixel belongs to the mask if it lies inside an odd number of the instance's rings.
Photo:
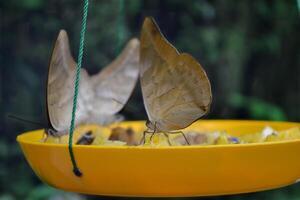
<path id="1" fill-rule="evenodd" d="M 105 121 L 124 107 L 135 87 L 138 73 L 139 40 L 131 39 L 111 64 L 91 77 L 95 94 L 91 113 L 97 116 L 98 121 Z"/>

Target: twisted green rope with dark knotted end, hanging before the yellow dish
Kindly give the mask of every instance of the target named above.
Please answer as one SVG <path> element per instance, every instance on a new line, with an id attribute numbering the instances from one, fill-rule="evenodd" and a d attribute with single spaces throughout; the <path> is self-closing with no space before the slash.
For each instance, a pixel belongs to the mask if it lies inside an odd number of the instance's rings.
<path id="1" fill-rule="evenodd" d="M 81 176 L 82 173 L 80 172 L 79 168 L 77 167 L 74 152 L 72 149 L 73 146 L 73 133 L 74 133 L 74 127 L 75 127 L 75 113 L 77 108 L 77 96 L 78 96 L 78 87 L 79 87 L 79 81 L 80 81 L 80 69 L 81 69 L 81 63 L 82 63 L 82 56 L 83 56 L 83 48 L 84 48 L 84 36 L 85 36 L 85 30 L 86 30 L 86 19 L 88 14 L 88 6 L 89 1 L 84 0 L 84 6 L 83 6 L 83 17 L 82 17 L 82 25 L 81 25 L 81 31 L 80 31 L 80 44 L 79 44 L 79 54 L 78 54 L 78 64 L 76 67 L 76 79 L 75 79 L 75 88 L 74 88 L 74 97 L 73 97 L 73 109 L 72 109 L 72 119 L 71 119 L 71 125 L 70 125 L 70 137 L 69 137 L 69 153 L 73 165 L 73 172 L 76 176 Z"/>

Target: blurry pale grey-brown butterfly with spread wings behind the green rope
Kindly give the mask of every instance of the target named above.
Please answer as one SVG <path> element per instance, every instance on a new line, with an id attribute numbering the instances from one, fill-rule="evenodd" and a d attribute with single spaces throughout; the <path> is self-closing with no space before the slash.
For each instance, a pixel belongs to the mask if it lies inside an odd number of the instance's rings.
<path id="1" fill-rule="evenodd" d="M 49 64 L 47 80 L 47 114 L 50 129 L 46 134 L 68 134 L 76 74 L 65 30 L 59 32 Z M 76 125 L 101 125 L 118 121 L 116 115 L 128 101 L 138 79 L 139 40 L 131 39 L 121 54 L 96 75 L 81 69 Z"/>

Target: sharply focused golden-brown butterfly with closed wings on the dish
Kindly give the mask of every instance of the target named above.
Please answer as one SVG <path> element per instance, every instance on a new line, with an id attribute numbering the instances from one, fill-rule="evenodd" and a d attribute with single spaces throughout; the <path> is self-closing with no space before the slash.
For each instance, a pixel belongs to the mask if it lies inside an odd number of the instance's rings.
<path id="1" fill-rule="evenodd" d="M 212 101 L 211 86 L 196 59 L 179 53 L 150 17 L 144 20 L 140 41 L 140 82 L 148 129 L 172 132 L 205 115 Z"/>

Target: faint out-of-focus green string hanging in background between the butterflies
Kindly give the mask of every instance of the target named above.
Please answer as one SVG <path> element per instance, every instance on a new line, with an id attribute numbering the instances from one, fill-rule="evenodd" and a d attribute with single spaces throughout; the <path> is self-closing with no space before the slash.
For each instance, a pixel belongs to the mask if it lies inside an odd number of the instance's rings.
<path id="1" fill-rule="evenodd" d="M 117 27 L 117 48 L 116 54 L 118 55 L 121 52 L 122 42 L 124 41 L 124 17 L 125 17 L 125 9 L 124 9 L 124 0 L 119 0 L 119 15 L 118 21 L 116 23 Z"/>

